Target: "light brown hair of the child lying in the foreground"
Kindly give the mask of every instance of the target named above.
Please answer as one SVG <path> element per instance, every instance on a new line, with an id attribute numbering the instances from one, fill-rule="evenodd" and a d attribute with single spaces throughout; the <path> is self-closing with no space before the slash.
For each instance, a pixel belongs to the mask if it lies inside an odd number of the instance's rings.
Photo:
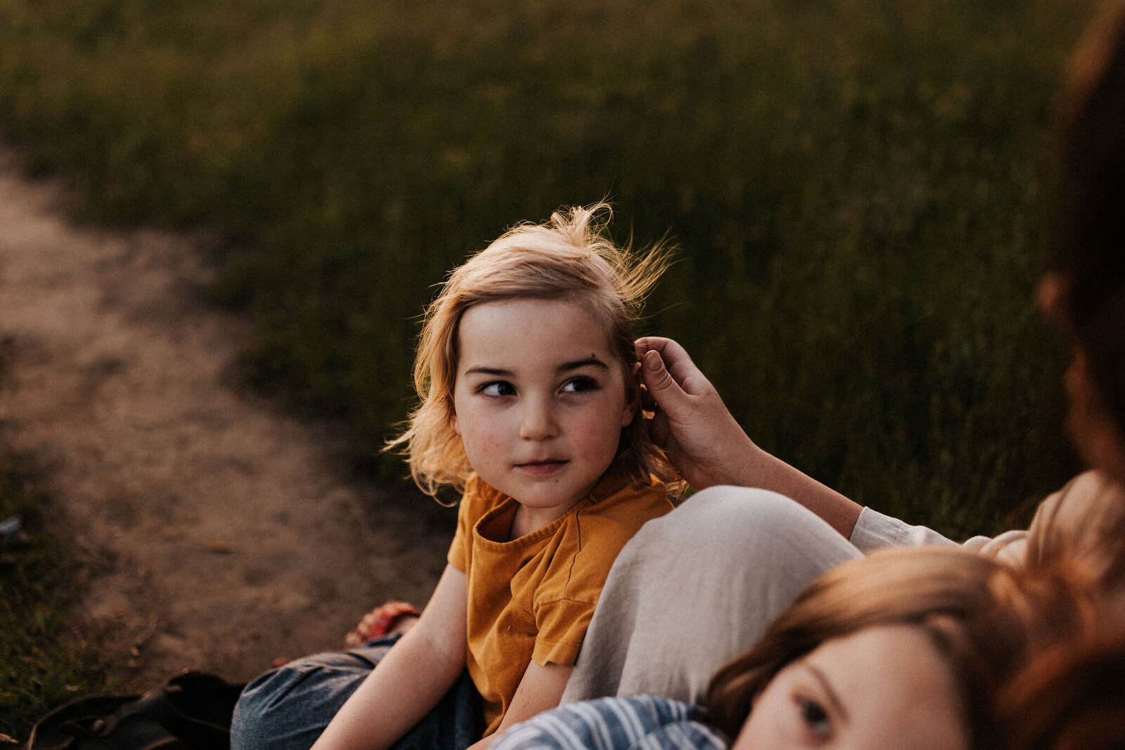
<path id="1" fill-rule="evenodd" d="M 734 738 L 754 699 L 791 662 L 867 627 L 912 625 L 950 665 L 971 747 L 994 747 L 992 703 L 1000 686 L 1035 644 L 1080 632 L 1095 616 L 1071 581 L 1062 568 L 1032 573 L 957 548 L 886 550 L 845 562 L 716 672 L 708 721 Z"/>

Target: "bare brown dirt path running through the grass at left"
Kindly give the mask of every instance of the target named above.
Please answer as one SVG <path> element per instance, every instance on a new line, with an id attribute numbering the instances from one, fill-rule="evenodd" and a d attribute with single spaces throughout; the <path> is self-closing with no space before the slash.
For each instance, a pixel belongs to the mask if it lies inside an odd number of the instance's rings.
<path id="1" fill-rule="evenodd" d="M 75 227 L 64 199 L 0 150 L 0 439 L 84 561 L 76 617 L 115 675 L 248 679 L 424 604 L 448 537 L 349 481 L 330 428 L 235 391 L 248 328 L 197 301 L 200 241 Z"/>

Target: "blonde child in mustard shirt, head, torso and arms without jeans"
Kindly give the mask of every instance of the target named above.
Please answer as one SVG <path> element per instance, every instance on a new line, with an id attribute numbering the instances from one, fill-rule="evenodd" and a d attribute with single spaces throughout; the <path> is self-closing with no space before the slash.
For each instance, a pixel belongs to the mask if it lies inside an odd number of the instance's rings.
<path id="1" fill-rule="evenodd" d="M 672 509 L 674 470 L 641 432 L 632 319 L 666 266 L 597 220 L 604 205 L 519 226 L 428 308 L 405 445 L 415 481 L 464 491 L 418 622 L 315 748 L 385 748 L 468 668 L 486 747 L 559 703 L 618 552 Z"/>

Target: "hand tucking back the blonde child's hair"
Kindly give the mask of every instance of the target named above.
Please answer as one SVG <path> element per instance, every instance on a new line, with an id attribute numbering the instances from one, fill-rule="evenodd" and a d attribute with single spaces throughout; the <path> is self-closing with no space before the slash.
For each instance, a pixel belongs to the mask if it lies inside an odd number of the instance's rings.
<path id="1" fill-rule="evenodd" d="M 648 390 L 645 409 L 652 441 L 696 489 L 750 485 L 758 448 L 727 409 L 711 381 L 683 346 L 670 338 L 637 340 L 640 374 Z"/>

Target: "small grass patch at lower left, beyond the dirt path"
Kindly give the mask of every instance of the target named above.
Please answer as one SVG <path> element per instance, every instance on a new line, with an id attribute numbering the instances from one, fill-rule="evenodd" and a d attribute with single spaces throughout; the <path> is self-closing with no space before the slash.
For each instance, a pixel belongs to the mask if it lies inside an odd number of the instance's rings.
<path id="1" fill-rule="evenodd" d="M 0 552 L 0 733 L 27 739 L 48 710 L 106 689 L 93 650 L 68 620 L 76 577 L 42 531 L 43 498 L 0 462 L 0 519 L 18 515 L 30 542 Z"/>

